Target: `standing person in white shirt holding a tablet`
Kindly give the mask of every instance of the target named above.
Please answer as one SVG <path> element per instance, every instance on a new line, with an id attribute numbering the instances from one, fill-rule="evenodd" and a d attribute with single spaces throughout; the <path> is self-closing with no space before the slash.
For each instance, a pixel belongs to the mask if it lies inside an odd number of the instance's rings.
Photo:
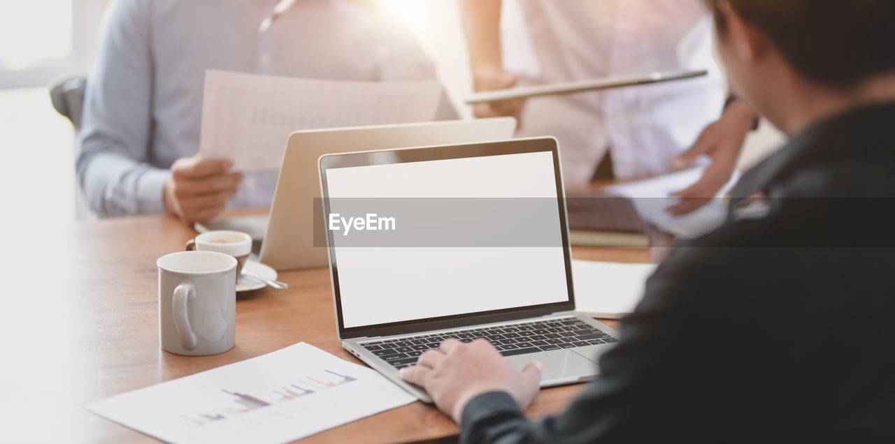
<path id="1" fill-rule="evenodd" d="M 679 191 L 686 198 L 669 208 L 684 214 L 729 180 L 755 116 L 745 102 L 725 100 L 712 58 L 712 17 L 702 1 L 462 0 L 461 6 L 476 90 L 709 70 L 695 80 L 475 106 L 477 117 L 516 116 L 519 136 L 556 136 L 567 184 L 589 182 L 605 159 L 616 179 L 629 180 L 708 155 L 703 179 Z"/>

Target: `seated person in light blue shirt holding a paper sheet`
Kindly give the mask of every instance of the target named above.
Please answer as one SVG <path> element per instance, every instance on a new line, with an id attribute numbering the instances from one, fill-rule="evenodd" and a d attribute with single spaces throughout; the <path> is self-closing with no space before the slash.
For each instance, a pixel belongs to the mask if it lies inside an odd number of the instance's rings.
<path id="1" fill-rule="evenodd" d="M 209 69 L 330 80 L 432 80 L 409 32 L 340 0 L 113 0 L 90 74 L 77 177 L 98 215 L 176 214 L 270 204 L 277 172 L 201 160 Z"/>

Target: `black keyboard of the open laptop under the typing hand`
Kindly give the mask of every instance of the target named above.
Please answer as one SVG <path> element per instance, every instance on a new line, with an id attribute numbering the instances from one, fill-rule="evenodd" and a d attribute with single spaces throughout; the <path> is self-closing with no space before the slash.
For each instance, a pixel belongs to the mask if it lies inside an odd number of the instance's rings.
<path id="1" fill-rule="evenodd" d="M 503 356 L 526 355 L 563 348 L 587 347 L 617 342 L 609 334 L 575 318 L 551 319 L 531 323 L 513 323 L 495 327 L 446 331 L 408 338 L 363 342 L 361 347 L 397 369 L 416 364 L 423 352 L 439 348 L 441 341 L 453 338 L 461 342 L 488 340 Z"/>

